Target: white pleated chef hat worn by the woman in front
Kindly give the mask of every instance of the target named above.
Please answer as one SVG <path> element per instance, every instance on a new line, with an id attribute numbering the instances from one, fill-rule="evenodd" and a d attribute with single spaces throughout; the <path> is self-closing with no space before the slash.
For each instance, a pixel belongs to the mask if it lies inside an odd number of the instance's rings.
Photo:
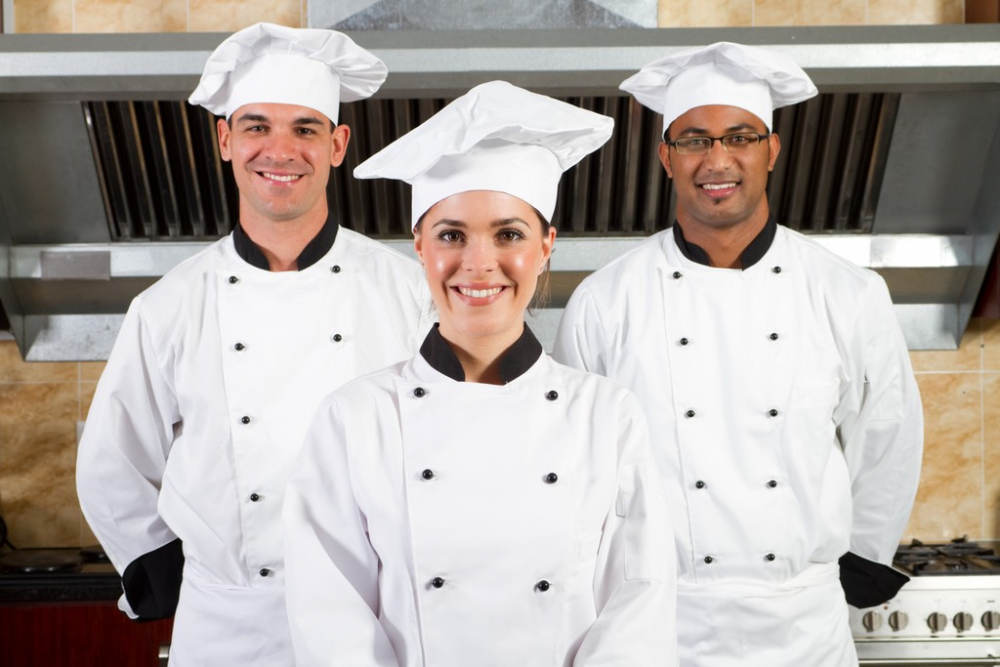
<path id="1" fill-rule="evenodd" d="M 470 190 L 506 192 L 551 220 L 559 178 L 613 127 L 607 116 L 491 81 L 362 162 L 354 176 L 412 185 L 413 227 L 434 204 Z"/>

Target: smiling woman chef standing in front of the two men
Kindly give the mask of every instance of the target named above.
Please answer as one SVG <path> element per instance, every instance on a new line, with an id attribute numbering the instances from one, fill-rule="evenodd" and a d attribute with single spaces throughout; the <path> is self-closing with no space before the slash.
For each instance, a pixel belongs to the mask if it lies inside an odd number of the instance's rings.
<path id="1" fill-rule="evenodd" d="M 495 81 L 359 166 L 413 185 L 440 324 L 321 405 L 288 486 L 299 665 L 671 665 L 674 555 L 634 396 L 524 324 L 598 114 Z"/>

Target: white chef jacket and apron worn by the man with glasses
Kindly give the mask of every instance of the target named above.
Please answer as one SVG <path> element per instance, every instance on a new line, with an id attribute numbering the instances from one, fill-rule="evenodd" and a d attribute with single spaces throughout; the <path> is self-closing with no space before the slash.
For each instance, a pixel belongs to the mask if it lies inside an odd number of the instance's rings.
<path id="1" fill-rule="evenodd" d="M 681 664 L 856 665 L 838 559 L 898 589 L 887 565 L 923 446 L 888 290 L 773 221 L 743 270 L 707 266 L 680 232 L 588 276 L 554 356 L 631 388 L 649 416 Z"/>

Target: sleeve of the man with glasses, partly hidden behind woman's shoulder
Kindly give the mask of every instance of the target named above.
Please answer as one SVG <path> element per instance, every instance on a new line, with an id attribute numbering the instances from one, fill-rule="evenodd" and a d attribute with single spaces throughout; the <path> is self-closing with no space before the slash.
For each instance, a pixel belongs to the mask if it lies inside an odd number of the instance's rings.
<path id="1" fill-rule="evenodd" d="M 584 283 L 573 292 L 563 310 L 552 358 L 572 368 L 607 376 L 611 370 L 610 350 L 601 313 Z"/>

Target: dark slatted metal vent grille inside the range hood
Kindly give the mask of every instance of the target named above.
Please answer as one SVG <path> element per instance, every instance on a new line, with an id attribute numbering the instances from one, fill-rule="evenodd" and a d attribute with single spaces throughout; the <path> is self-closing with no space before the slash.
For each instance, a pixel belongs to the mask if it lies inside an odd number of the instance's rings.
<path id="1" fill-rule="evenodd" d="M 612 116 L 615 133 L 564 176 L 553 215 L 560 232 L 648 235 L 668 227 L 673 191 L 657 152 L 659 116 L 630 97 L 567 101 Z M 342 107 L 353 134 L 328 188 L 337 220 L 374 238 L 409 236 L 409 187 L 359 181 L 351 169 L 447 102 Z M 898 94 L 836 93 L 778 110 L 782 150 L 768 186 L 778 221 L 803 232 L 870 232 L 898 106 Z M 206 240 L 232 229 L 238 195 L 211 114 L 184 102 L 88 102 L 84 112 L 114 240 Z"/>

